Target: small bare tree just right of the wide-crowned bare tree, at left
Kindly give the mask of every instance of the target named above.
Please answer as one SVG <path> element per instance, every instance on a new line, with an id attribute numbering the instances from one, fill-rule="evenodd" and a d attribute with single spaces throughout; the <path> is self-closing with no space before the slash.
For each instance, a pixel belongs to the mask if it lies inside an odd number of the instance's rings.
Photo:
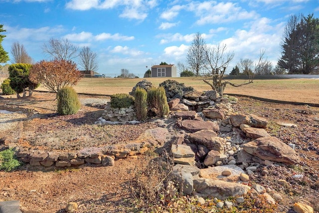
<path id="1" fill-rule="evenodd" d="M 84 70 L 96 71 L 98 68 L 97 54 L 92 52 L 90 47 L 84 46 L 80 51 L 79 65 L 82 66 Z"/>

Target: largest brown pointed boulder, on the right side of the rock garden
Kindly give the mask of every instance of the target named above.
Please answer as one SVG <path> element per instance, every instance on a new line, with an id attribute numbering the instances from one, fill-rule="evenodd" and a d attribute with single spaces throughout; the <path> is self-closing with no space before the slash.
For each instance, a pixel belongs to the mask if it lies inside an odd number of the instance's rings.
<path id="1" fill-rule="evenodd" d="M 300 157 L 290 146 L 276 137 L 257 138 L 243 145 L 244 151 L 262 160 L 295 165 Z"/>

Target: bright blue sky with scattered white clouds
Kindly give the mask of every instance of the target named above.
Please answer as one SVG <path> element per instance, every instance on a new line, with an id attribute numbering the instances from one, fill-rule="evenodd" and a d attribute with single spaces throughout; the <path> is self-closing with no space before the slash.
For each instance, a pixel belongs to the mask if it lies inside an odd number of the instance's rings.
<path id="1" fill-rule="evenodd" d="M 0 0 L 7 52 L 19 42 L 36 62 L 48 59 L 41 47 L 50 38 L 67 38 L 89 46 L 97 71 L 113 77 L 122 68 L 143 77 L 161 61 L 186 65 L 196 32 L 234 51 L 228 73 L 240 58 L 256 60 L 261 49 L 276 65 L 283 29 L 299 13 L 319 17 L 319 0 Z"/>

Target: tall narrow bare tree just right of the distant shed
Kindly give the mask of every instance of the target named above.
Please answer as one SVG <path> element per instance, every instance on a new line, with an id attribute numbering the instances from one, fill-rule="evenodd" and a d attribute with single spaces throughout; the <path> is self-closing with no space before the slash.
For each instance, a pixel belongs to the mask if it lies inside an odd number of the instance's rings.
<path id="1" fill-rule="evenodd" d="M 193 38 L 193 42 L 188 48 L 186 56 L 187 63 L 192 72 L 196 76 L 200 74 L 205 64 L 206 42 L 201 33 L 197 32 Z"/>

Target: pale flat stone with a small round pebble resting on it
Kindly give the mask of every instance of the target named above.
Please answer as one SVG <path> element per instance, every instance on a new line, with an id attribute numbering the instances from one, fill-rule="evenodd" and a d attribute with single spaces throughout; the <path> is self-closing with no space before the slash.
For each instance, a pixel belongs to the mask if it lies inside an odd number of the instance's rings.
<path id="1" fill-rule="evenodd" d="M 225 170 L 228 170 L 231 174 L 229 176 L 223 176 L 222 173 Z M 239 176 L 241 173 L 245 172 L 236 165 L 224 165 L 201 169 L 199 177 L 214 180 L 218 179 L 227 182 L 237 182 L 239 181 Z"/>

